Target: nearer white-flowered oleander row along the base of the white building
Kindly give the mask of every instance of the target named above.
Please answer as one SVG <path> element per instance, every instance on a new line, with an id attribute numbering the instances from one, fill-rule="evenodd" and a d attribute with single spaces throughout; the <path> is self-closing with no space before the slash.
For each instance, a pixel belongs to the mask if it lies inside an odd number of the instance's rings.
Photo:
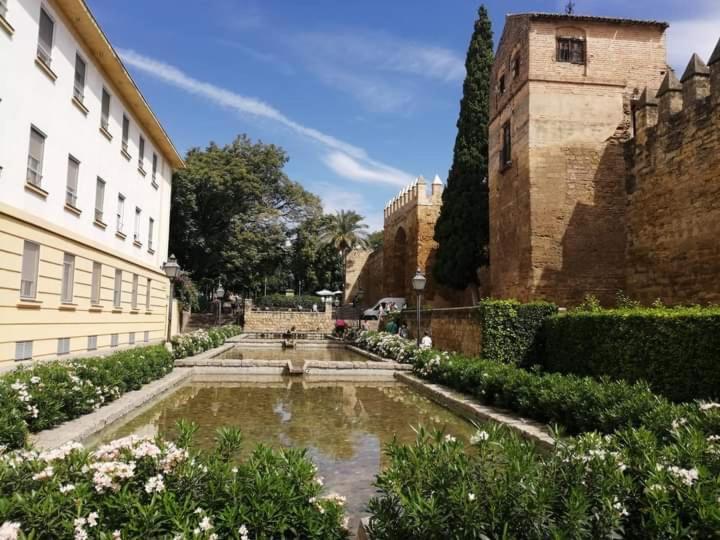
<path id="1" fill-rule="evenodd" d="M 0 444 L 19 448 L 28 432 L 92 412 L 172 368 L 173 359 L 163 346 L 19 367 L 0 377 Z"/>

